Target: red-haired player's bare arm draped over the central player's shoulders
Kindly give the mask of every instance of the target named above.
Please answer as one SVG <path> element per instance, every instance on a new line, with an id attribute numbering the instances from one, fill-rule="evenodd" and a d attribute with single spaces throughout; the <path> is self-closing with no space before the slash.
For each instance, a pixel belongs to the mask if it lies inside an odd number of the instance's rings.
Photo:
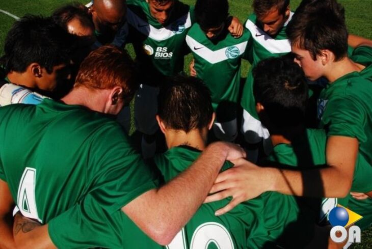
<path id="1" fill-rule="evenodd" d="M 157 243 L 169 244 L 202 204 L 224 161 L 244 155 L 243 149 L 235 145 L 211 144 L 188 170 L 122 210 Z"/>

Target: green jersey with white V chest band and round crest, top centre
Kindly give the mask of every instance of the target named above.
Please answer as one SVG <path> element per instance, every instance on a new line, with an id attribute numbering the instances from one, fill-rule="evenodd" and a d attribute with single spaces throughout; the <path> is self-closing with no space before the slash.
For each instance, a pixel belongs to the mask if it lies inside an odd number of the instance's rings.
<path id="1" fill-rule="evenodd" d="M 236 113 L 231 108 L 224 108 L 224 105 L 238 102 L 241 59 L 247 49 L 249 33 L 245 30 L 242 37 L 234 38 L 226 29 L 220 37 L 216 41 L 208 39 L 199 24 L 195 23 L 186 36 L 186 42 L 195 59 L 197 77 L 211 92 L 217 120 L 225 122 L 236 118 Z M 225 109 L 225 112 L 219 112 L 220 109 Z"/>

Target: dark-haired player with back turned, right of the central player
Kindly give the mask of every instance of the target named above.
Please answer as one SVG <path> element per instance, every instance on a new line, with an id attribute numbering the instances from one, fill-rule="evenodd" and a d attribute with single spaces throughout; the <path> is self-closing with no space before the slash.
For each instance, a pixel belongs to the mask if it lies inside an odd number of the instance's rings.
<path id="1" fill-rule="evenodd" d="M 290 57 L 272 58 L 261 61 L 253 76 L 257 112 L 262 124 L 272 134 L 274 146 L 265 164 L 273 165 L 275 162 L 281 168 L 300 166 L 300 170 L 324 167 L 327 134 L 324 129 L 305 128 L 308 87 L 301 68 Z M 365 158 L 358 155 L 352 191 L 372 190 L 369 167 Z M 337 203 L 349 207 L 349 195 L 344 199 L 323 200 L 321 218 L 326 218 Z"/>

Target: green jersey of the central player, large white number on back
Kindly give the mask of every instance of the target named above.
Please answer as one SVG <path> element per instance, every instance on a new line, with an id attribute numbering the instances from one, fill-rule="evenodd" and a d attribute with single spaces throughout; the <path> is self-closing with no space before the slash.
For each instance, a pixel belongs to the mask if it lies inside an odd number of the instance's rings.
<path id="1" fill-rule="evenodd" d="M 200 151 L 190 147 L 174 147 L 162 155 L 156 155 L 154 161 L 167 182 L 186 170 L 199 155 Z M 222 170 L 230 168 L 231 165 L 226 162 Z M 262 248 L 263 245 L 269 244 L 272 246 L 285 234 L 289 224 L 293 225 L 300 220 L 295 199 L 277 192 L 265 192 L 253 200 L 239 204 L 224 215 L 216 216 L 215 211 L 229 201 L 231 198 L 203 204 L 167 248 Z M 126 228 L 131 233 L 128 235 L 130 238 L 124 239 L 125 247 L 157 248 L 133 223 L 128 223 Z"/>

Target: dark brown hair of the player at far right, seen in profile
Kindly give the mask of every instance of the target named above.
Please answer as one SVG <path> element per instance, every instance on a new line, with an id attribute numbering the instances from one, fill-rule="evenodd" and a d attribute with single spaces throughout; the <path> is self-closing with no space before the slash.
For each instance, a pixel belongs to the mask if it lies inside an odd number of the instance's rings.
<path id="1" fill-rule="evenodd" d="M 322 49 L 332 51 L 335 61 L 346 57 L 349 34 L 343 7 L 335 0 L 306 3 L 287 25 L 286 34 L 290 42 L 308 50 L 313 60 L 322 54 Z"/>

